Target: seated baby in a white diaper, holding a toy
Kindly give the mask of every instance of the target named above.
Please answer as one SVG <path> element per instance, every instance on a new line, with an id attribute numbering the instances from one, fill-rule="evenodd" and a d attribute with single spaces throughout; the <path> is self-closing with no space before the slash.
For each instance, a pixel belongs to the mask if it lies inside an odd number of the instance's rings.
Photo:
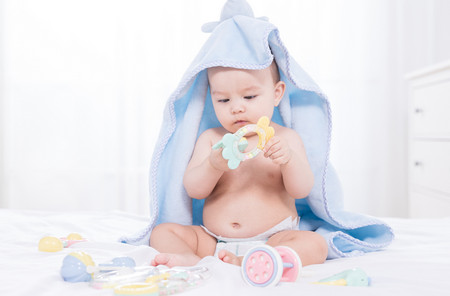
<path id="1" fill-rule="evenodd" d="M 276 63 L 262 70 L 209 68 L 208 80 L 222 127 L 200 135 L 183 179 L 190 197 L 205 199 L 204 226 L 156 226 L 150 246 L 161 253 L 152 265 L 190 266 L 211 255 L 241 265 L 245 251 L 263 243 L 291 247 L 303 265 L 324 262 L 323 237 L 298 230 L 295 199 L 305 198 L 314 183 L 300 136 L 272 122 L 275 136 L 264 150 L 234 170 L 221 149 L 211 148 L 226 133 L 256 124 L 262 116 L 272 118 L 286 89 Z M 248 147 L 255 147 L 258 135 L 246 139 Z"/>

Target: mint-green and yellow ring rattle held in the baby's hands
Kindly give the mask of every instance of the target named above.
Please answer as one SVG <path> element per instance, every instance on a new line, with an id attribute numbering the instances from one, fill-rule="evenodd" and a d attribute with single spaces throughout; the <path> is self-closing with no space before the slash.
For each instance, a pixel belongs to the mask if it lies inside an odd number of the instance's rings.
<path id="1" fill-rule="evenodd" d="M 234 170 L 239 166 L 241 161 L 255 157 L 264 149 L 267 141 L 275 134 L 275 130 L 269 124 L 270 119 L 263 116 L 258 120 L 257 124 L 248 124 L 241 127 L 234 134 L 225 134 L 222 140 L 217 142 L 212 148 L 223 148 L 222 156 L 228 160 L 228 167 Z M 258 134 L 258 145 L 251 151 L 243 152 L 247 148 L 247 140 L 244 136 L 251 132 Z"/>

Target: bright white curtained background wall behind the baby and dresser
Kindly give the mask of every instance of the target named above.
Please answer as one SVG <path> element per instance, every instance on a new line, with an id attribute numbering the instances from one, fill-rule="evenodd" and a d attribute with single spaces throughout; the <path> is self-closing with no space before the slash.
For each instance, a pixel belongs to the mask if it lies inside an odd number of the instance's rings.
<path id="1" fill-rule="evenodd" d="M 164 102 L 224 1 L 155 3 L 0 0 L 0 207 L 148 212 Z M 330 99 L 346 208 L 405 216 L 404 74 L 450 58 L 450 1 L 249 3 Z"/>

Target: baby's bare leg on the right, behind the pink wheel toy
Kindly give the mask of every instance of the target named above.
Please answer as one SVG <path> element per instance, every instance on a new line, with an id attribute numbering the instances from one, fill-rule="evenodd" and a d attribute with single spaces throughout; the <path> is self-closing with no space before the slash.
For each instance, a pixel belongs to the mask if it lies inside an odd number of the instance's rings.
<path id="1" fill-rule="evenodd" d="M 302 260 L 303 266 L 323 263 L 328 255 L 328 245 L 325 239 L 312 231 L 281 231 L 270 237 L 267 244 L 272 247 L 292 248 Z"/>

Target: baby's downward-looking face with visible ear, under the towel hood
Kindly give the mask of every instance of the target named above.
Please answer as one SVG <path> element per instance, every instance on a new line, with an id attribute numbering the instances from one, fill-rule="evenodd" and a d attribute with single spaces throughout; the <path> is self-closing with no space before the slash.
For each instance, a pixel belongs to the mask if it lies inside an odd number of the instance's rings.
<path id="1" fill-rule="evenodd" d="M 255 124 L 261 116 L 272 118 L 285 89 L 284 82 L 274 82 L 270 68 L 216 67 L 208 69 L 208 78 L 216 116 L 231 133 Z"/>

